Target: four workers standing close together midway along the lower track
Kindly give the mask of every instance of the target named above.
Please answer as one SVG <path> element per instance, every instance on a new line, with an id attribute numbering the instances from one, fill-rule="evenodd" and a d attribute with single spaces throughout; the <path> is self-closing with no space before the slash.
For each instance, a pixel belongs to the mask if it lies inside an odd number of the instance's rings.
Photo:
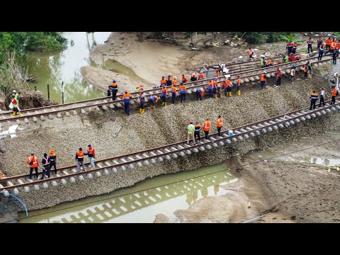
<path id="1" fill-rule="evenodd" d="M 218 115 L 218 118 L 216 120 L 216 128 L 217 128 L 217 135 L 221 136 L 221 129 L 223 127 L 223 119 L 221 115 Z M 195 122 L 195 125 L 193 125 L 193 120 L 190 121 L 190 124 L 188 125 L 188 139 L 186 140 L 186 144 L 188 145 L 190 140 L 193 140 L 193 145 L 196 145 L 196 140 L 200 141 L 200 123 L 198 121 Z M 203 131 L 205 135 L 205 139 L 208 140 L 208 135 L 211 130 L 211 122 L 209 118 L 205 120 L 203 123 Z"/>

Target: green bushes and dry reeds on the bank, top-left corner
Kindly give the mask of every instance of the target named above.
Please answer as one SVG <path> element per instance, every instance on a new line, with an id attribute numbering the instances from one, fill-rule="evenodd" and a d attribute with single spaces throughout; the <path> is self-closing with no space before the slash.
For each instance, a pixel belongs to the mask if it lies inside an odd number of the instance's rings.
<path id="1" fill-rule="evenodd" d="M 67 39 L 58 32 L 0 32 L 0 91 L 27 86 L 20 62 L 30 51 L 56 51 L 67 47 Z"/>

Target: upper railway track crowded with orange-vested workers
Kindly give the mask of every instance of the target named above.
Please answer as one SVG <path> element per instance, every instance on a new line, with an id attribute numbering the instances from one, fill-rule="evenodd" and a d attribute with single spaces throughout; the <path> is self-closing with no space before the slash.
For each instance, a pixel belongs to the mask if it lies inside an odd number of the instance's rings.
<path id="1" fill-rule="evenodd" d="M 305 64 L 307 60 L 310 60 L 314 64 L 314 67 L 317 67 L 317 64 L 324 64 L 331 60 L 330 55 L 325 57 L 324 60 L 317 61 L 317 57 L 309 57 L 304 60 L 299 60 L 295 62 L 288 62 L 284 64 L 278 64 L 276 66 L 272 67 L 264 67 L 260 69 L 251 69 L 248 71 L 244 72 L 239 72 L 239 73 L 234 73 L 230 74 L 232 76 L 232 81 L 237 79 L 237 75 L 240 76 L 242 79 L 242 83 L 244 82 L 251 82 L 251 81 L 259 81 L 260 75 L 263 71 L 266 71 L 266 77 L 275 77 L 276 75 L 276 69 L 280 67 L 283 70 L 286 70 L 285 75 L 290 73 L 291 67 L 293 67 L 293 64 L 295 64 L 296 67 L 301 67 Z M 302 64 L 303 63 L 303 64 Z M 317 64 L 316 64 L 317 63 Z M 218 77 L 217 83 L 220 84 L 222 83 L 223 79 L 225 79 L 224 76 Z M 208 81 L 210 79 L 203 79 L 200 81 L 192 81 L 186 83 L 186 88 L 187 88 L 187 93 L 190 95 L 194 92 L 196 92 L 196 89 L 200 87 L 205 87 L 208 84 Z M 179 85 L 177 85 L 178 87 Z M 139 103 L 138 98 L 139 92 L 133 92 L 132 93 L 132 100 L 130 101 L 130 105 L 134 105 L 136 103 Z M 145 90 L 146 97 L 149 98 L 149 96 L 152 95 L 159 95 L 161 94 L 161 89 L 148 89 Z M 168 96 L 171 96 L 171 92 L 168 91 Z M 146 99 L 147 102 L 147 99 Z M 91 108 L 93 108 L 95 111 L 100 111 L 101 107 L 104 111 L 107 111 L 108 108 L 123 108 L 123 99 L 118 96 L 118 99 L 115 101 L 111 101 L 111 97 L 103 97 L 103 98 L 95 98 L 95 99 L 89 99 L 85 101 L 78 101 L 75 103 L 64 103 L 60 105 L 55 105 L 55 106 L 45 106 L 45 107 L 40 107 L 40 108 L 30 108 L 27 110 L 22 110 L 22 116 L 11 116 L 11 111 L 6 111 L 6 112 L 1 112 L 0 113 L 0 123 L 4 122 L 11 122 L 11 121 L 17 121 L 20 123 L 20 120 L 24 120 L 25 123 L 29 123 L 29 118 L 33 118 L 33 122 L 37 122 L 38 118 L 40 117 L 40 120 L 45 120 L 45 116 L 48 116 L 48 118 L 52 119 L 55 118 L 55 115 L 57 118 L 62 118 L 62 114 L 66 114 L 66 116 L 69 115 L 77 115 L 78 112 L 77 110 L 80 110 L 82 114 L 86 113 L 86 109 L 89 109 L 91 111 Z"/>

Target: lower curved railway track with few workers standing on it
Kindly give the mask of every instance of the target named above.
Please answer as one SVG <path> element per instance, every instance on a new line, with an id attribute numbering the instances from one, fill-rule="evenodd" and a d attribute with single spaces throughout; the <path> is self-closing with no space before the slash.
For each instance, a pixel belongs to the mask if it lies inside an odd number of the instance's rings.
<path id="1" fill-rule="evenodd" d="M 130 154 L 100 159 L 95 162 L 96 169 L 77 172 L 77 165 L 72 165 L 59 168 L 57 175 L 50 179 L 33 181 L 28 179 L 29 174 L 4 178 L 0 181 L 0 190 L 4 191 L 5 196 L 8 196 L 9 190 L 12 190 L 14 194 L 18 194 L 19 188 L 23 188 L 23 191 L 29 192 L 31 186 L 33 186 L 33 189 L 39 190 L 40 185 L 42 188 L 48 188 L 49 184 L 52 184 L 52 186 L 57 186 L 58 183 L 64 185 L 67 184 L 67 181 L 72 183 L 75 182 L 76 178 L 79 181 L 82 181 L 84 180 L 85 175 L 86 178 L 91 179 L 94 177 L 93 174 L 95 174 L 95 176 L 115 174 L 117 171 L 125 171 L 127 168 L 133 169 L 143 165 L 148 166 L 149 164 L 156 164 L 157 162 L 162 163 L 164 160 L 170 160 L 171 158 L 176 159 L 185 155 L 203 152 L 205 149 L 212 149 L 212 147 L 231 145 L 238 141 L 247 140 L 251 137 L 266 134 L 267 132 L 274 132 L 290 125 L 327 115 L 327 113 L 331 113 L 332 111 L 339 111 L 339 99 L 339 97 L 336 98 L 336 103 L 334 105 L 329 105 L 329 101 L 326 101 L 326 106 L 322 108 L 317 107 L 312 111 L 302 108 L 290 113 L 267 118 L 266 120 L 261 120 L 256 123 L 232 128 L 234 131 L 234 135 L 232 136 L 228 136 L 226 130 L 221 132 L 221 137 L 218 137 L 217 133 L 210 134 L 208 140 L 203 139 L 200 142 L 197 141 L 196 145 L 186 145 L 186 141 L 181 141 L 170 145 L 132 152 Z M 89 163 L 86 163 L 86 166 L 88 165 Z M 41 174 L 41 172 L 39 174 Z"/>

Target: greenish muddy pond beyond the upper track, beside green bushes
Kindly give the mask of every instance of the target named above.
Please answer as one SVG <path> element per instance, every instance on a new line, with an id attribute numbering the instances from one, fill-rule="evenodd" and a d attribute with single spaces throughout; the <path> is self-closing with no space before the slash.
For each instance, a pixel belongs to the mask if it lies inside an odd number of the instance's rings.
<path id="1" fill-rule="evenodd" d="M 50 84 L 50 100 L 62 103 L 62 81 L 64 81 L 65 103 L 106 96 L 106 91 L 87 84 L 81 77 L 80 68 L 84 66 L 109 69 L 140 79 L 135 72 L 119 62 L 110 60 L 96 63 L 89 57 L 90 50 L 96 45 L 103 44 L 111 32 L 64 32 L 63 35 L 68 39 L 66 50 L 27 54 L 25 67 L 28 67 L 28 74 L 38 80 L 37 83 L 30 82 L 30 88 L 35 89 L 36 86 L 45 98 L 47 98 L 47 84 Z"/>

